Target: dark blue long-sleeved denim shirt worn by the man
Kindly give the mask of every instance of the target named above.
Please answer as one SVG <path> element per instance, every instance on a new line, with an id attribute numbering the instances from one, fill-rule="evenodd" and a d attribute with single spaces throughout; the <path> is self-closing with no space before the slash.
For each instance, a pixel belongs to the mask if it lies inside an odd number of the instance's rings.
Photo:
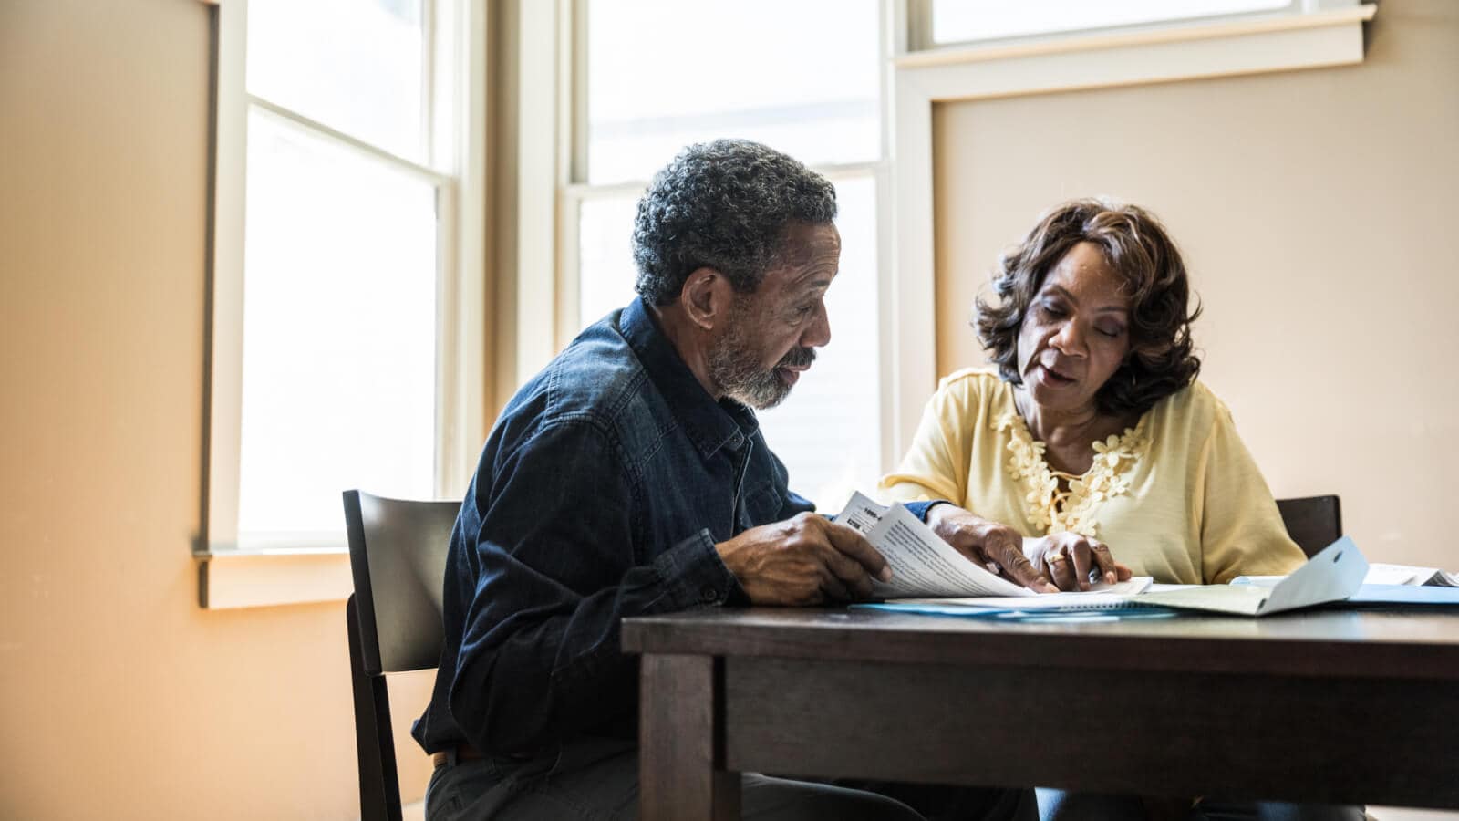
<path id="1" fill-rule="evenodd" d="M 746 602 L 715 543 L 797 513 L 754 413 L 716 402 L 635 301 L 512 397 L 451 533 L 445 647 L 414 738 L 436 752 L 633 739 L 623 616 Z"/>

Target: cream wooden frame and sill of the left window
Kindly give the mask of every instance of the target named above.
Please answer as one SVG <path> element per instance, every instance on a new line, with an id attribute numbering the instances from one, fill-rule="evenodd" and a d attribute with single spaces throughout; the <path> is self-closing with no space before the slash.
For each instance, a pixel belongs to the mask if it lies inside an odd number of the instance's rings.
<path id="1" fill-rule="evenodd" d="M 425 0 L 427 31 L 423 118 L 427 159 L 414 162 L 247 91 L 248 0 L 212 9 L 212 146 L 204 297 L 203 498 L 198 600 L 203 608 L 347 597 L 344 522 L 337 538 L 241 543 L 238 492 L 244 356 L 244 215 L 248 115 L 252 107 L 330 143 L 436 187 L 435 494 L 458 497 L 470 482 L 486 421 L 486 10 L 468 0 Z M 446 44 L 442 37 L 452 37 Z M 444 60 L 451 60 L 449 66 Z M 449 72 L 449 76 L 446 75 Z M 451 95 L 451 105 L 436 101 Z M 449 120 L 445 112 L 449 112 Z M 442 156 L 442 130 L 454 150 Z M 340 488 L 344 491 L 346 488 Z"/>

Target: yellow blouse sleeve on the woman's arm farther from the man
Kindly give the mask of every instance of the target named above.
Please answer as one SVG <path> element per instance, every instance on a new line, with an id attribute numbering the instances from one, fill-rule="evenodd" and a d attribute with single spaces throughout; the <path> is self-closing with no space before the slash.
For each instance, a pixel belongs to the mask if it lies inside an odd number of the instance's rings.
<path id="1" fill-rule="evenodd" d="M 1306 557 L 1287 535 L 1277 501 L 1237 435 L 1231 412 L 1217 405 L 1199 460 L 1205 488 L 1201 576 L 1207 584 L 1226 584 L 1237 576 L 1291 573 Z"/>

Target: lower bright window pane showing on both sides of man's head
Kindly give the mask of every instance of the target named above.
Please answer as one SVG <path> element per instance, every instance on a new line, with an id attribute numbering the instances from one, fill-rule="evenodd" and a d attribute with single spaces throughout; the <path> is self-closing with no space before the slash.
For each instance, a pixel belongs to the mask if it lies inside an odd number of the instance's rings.
<path id="1" fill-rule="evenodd" d="M 840 273 L 826 294 L 830 345 L 779 408 L 760 412 L 766 441 L 791 472 L 791 489 L 840 510 L 854 489 L 880 478 L 881 381 L 877 377 L 875 181 L 836 181 Z M 633 298 L 636 199 L 591 199 L 579 209 L 579 298 L 584 324 Z"/>

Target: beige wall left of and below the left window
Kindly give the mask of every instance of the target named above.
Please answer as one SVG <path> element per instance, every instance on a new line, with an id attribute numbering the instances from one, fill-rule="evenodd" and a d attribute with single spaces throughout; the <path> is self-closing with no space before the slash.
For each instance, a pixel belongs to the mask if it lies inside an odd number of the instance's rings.
<path id="1" fill-rule="evenodd" d="M 343 603 L 197 608 L 207 16 L 0 0 L 0 818 L 359 817 Z"/>

